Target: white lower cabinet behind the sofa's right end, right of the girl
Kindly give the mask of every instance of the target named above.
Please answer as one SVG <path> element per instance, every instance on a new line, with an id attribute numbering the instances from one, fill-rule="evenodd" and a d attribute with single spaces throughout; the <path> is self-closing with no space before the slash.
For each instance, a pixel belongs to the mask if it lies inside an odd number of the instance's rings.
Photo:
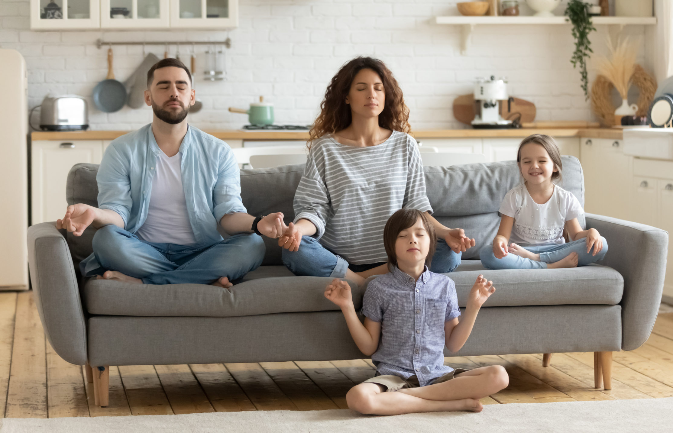
<path id="1" fill-rule="evenodd" d="M 633 158 L 625 156 L 621 140 L 583 138 L 580 162 L 584 174 L 584 209 L 629 220 L 629 193 L 633 185 Z M 639 180 L 638 185 L 640 185 Z"/>

